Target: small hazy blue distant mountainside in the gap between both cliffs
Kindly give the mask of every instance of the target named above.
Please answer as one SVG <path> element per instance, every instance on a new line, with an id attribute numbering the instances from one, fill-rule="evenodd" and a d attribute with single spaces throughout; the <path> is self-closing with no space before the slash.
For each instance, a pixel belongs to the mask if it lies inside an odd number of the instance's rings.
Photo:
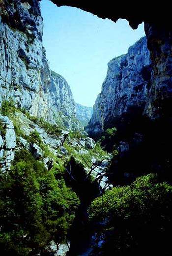
<path id="1" fill-rule="evenodd" d="M 76 117 L 83 126 L 86 126 L 93 114 L 92 107 L 86 107 L 79 103 L 76 103 Z"/>

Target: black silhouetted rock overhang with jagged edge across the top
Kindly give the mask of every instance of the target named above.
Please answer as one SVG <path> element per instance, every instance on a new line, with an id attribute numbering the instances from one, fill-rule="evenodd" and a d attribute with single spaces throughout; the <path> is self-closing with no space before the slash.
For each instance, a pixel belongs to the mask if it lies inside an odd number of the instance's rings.
<path id="1" fill-rule="evenodd" d="M 86 0 L 51 0 L 57 6 L 77 7 L 84 11 L 91 12 L 100 18 L 108 18 L 116 22 L 118 19 L 126 19 L 133 29 L 144 23 L 165 23 L 170 26 L 171 15 L 170 5 L 167 3 L 156 4 L 150 1 L 86 1 Z"/>

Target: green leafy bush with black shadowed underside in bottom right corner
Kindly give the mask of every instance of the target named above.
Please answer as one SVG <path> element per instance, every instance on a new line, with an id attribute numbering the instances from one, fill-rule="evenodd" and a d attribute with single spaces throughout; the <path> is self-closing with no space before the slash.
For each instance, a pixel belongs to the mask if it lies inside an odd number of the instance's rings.
<path id="1" fill-rule="evenodd" d="M 116 187 L 95 199 L 90 222 L 102 223 L 99 235 L 105 243 L 94 255 L 145 255 L 158 250 L 166 254 L 172 228 L 172 186 L 157 175 L 137 178 L 130 186 Z M 164 250 L 164 251 L 161 251 Z M 169 250 L 170 252 L 170 250 Z M 157 255 L 155 253 L 155 255 Z"/>

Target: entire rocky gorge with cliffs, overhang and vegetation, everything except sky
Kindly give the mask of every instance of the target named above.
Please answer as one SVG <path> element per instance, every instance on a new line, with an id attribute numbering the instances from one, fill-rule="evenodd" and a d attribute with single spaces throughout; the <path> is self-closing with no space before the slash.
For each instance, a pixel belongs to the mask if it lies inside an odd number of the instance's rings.
<path id="1" fill-rule="evenodd" d="M 133 29 L 144 21 L 146 36 L 109 62 L 92 110 L 50 69 L 40 1 L 0 1 L 0 251 L 170 256 L 169 16 L 52 1 Z"/>

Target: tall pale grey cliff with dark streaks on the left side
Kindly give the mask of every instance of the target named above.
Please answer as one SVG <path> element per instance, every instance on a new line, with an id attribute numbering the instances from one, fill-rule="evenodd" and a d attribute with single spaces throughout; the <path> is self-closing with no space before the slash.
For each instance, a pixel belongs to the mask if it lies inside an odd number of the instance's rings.
<path id="1" fill-rule="evenodd" d="M 33 116 L 72 126 L 75 102 L 62 76 L 51 72 L 42 45 L 43 19 L 37 0 L 2 1 L 0 102 L 11 98 Z"/>

